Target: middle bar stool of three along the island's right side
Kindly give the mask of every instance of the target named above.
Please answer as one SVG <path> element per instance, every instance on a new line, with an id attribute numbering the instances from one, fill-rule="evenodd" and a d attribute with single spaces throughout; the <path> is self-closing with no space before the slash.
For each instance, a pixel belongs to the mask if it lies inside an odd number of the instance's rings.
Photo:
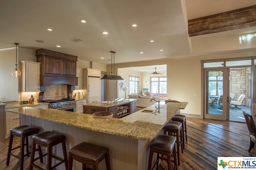
<path id="1" fill-rule="evenodd" d="M 183 139 L 182 139 L 181 126 L 182 126 L 182 123 L 178 121 L 168 121 L 168 123 L 164 126 L 164 134 L 166 134 L 167 132 L 168 135 L 176 137 L 179 166 L 180 166 L 180 147 L 181 147 L 181 152 L 183 153 L 183 142 L 182 142 Z"/>

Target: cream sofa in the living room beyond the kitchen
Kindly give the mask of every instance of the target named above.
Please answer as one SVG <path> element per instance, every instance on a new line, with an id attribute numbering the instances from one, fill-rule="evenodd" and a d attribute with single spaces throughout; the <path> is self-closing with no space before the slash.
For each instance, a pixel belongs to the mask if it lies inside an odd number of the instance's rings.
<path id="1" fill-rule="evenodd" d="M 154 96 L 154 95 L 150 95 L 150 96 L 142 96 L 139 94 L 135 94 L 135 95 L 131 95 L 129 94 L 128 99 L 137 99 L 136 101 L 136 106 L 137 107 L 148 107 L 151 106 L 153 104 L 156 104 L 157 102 L 152 100 L 150 102 L 151 99 L 155 99 L 155 100 L 160 100 L 160 101 L 164 101 L 166 100 L 166 97 L 162 97 L 162 96 Z"/>

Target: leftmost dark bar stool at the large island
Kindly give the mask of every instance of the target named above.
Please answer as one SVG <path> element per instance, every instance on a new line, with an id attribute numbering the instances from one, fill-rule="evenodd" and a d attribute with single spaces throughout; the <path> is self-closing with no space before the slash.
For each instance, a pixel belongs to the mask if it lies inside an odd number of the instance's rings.
<path id="1" fill-rule="evenodd" d="M 15 127 L 10 129 L 10 138 L 9 138 L 9 146 L 8 146 L 8 153 L 7 153 L 7 159 L 6 159 L 6 165 L 8 166 L 10 163 L 10 157 L 11 155 L 15 158 L 20 159 L 20 170 L 23 170 L 23 164 L 24 164 L 24 156 L 29 156 L 30 152 L 28 150 L 28 137 L 34 134 L 38 134 L 39 129 L 36 127 L 31 127 L 28 125 L 23 125 L 19 127 Z M 13 137 L 19 137 L 21 138 L 21 145 L 15 148 L 12 148 L 12 141 Z M 26 144 L 25 144 L 26 139 Z M 26 145 L 26 154 L 24 154 L 24 149 Z M 12 153 L 12 150 L 20 148 L 20 156 L 15 155 Z M 39 154 L 41 154 L 41 150 L 39 150 Z"/>

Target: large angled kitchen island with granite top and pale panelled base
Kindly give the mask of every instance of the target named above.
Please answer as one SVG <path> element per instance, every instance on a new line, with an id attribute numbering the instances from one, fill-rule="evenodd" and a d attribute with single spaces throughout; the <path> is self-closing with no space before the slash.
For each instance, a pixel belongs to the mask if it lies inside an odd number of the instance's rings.
<path id="1" fill-rule="evenodd" d="M 8 109 L 20 114 L 21 125 L 32 125 L 40 131 L 54 131 L 66 136 L 67 149 L 82 141 L 108 147 L 112 170 L 146 170 L 148 166 L 148 145 L 162 133 L 163 126 L 176 114 L 181 103 L 169 102 L 155 112 L 152 105 L 127 115 L 121 119 L 99 119 L 90 114 L 62 111 L 57 109 L 36 109 L 21 107 Z M 144 112 L 152 110 L 151 112 Z M 61 146 L 53 152 L 62 156 Z M 57 167 L 64 169 L 64 165 Z M 74 162 L 73 169 L 82 169 L 82 164 Z M 105 170 L 105 161 L 100 162 L 100 170 Z"/>

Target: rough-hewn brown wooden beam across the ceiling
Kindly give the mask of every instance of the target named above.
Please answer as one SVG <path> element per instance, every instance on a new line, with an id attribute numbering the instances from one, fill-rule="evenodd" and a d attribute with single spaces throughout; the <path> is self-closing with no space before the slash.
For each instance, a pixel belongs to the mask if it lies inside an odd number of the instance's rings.
<path id="1" fill-rule="evenodd" d="M 256 26 L 256 5 L 188 20 L 189 37 Z"/>

